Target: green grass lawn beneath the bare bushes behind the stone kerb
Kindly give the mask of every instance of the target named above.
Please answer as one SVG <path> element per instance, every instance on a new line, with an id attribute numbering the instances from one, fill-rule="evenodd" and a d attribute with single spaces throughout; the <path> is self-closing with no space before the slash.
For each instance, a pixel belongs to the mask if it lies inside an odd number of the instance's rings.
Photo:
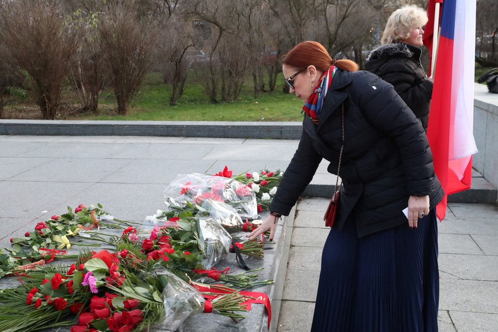
<path id="1" fill-rule="evenodd" d="M 476 66 L 475 79 L 491 68 Z M 59 120 L 161 120 L 161 121 L 302 121 L 302 101 L 294 95 L 284 94 L 282 73 L 273 93 L 262 92 L 253 97 L 252 81 L 247 81 L 237 102 L 212 104 L 204 87 L 189 72 L 183 96 L 177 106 L 169 105 L 168 85 L 163 84 L 161 73 L 146 76 L 142 87 L 128 107 L 126 116 L 116 114 L 116 101 L 112 89 L 107 88 L 99 97 L 99 114 L 80 113 L 78 96 L 69 87 L 62 100 Z M 39 108 L 27 98 L 7 97 L 2 118 L 42 119 Z"/>

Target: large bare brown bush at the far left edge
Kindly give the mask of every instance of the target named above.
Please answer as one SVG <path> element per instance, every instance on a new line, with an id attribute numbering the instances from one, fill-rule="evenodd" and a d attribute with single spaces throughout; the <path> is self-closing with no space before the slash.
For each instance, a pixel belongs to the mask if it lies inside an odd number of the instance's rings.
<path id="1" fill-rule="evenodd" d="M 2 11 L 0 32 L 45 119 L 55 119 L 75 50 L 76 30 L 57 1 L 19 0 Z"/>

